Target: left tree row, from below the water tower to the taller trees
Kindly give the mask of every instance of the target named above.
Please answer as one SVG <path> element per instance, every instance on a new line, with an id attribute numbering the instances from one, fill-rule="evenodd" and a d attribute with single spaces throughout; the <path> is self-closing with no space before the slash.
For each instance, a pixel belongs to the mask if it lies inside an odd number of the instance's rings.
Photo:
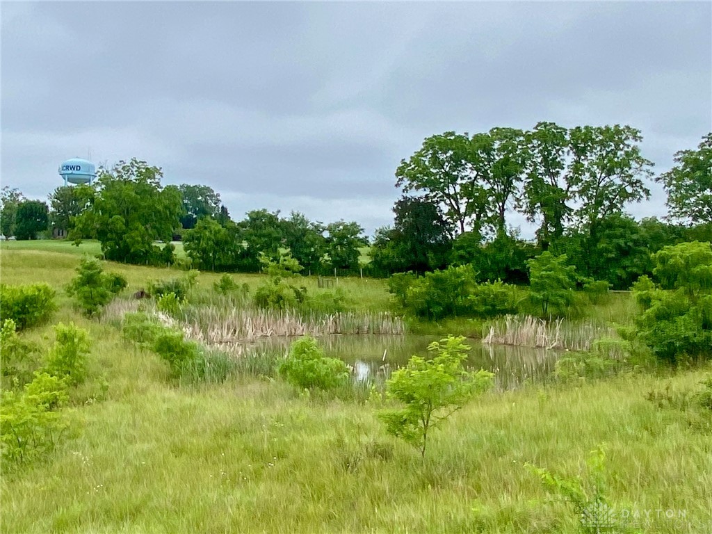
<path id="1" fill-rule="evenodd" d="M 192 266 L 206 271 L 256 272 L 261 258 L 278 261 L 287 251 L 306 273 L 359 271 L 368 240 L 354 221 L 323 224 L 296 211 L 285 218 L 267 209 L 233 221 L 210 187 L 162 187 L 162 176 L 147 162 L 121 161 L 99 169 L 92 187 L 58 187 L 50 206 L 5 188 L 1 229 L 17 239 L 34 239 L 48 227 L 75 241 L 98 239 L 105 258 L 124 263 L 174 263 L 170 241 L 182 239 Z"/>

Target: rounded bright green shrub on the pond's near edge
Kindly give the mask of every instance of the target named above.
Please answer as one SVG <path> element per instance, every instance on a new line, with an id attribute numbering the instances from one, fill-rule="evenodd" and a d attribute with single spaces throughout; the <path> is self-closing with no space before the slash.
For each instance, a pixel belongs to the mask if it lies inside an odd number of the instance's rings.
<path id="1" fill-rule="evenodd" d="M 346 364 L 325 357 L 316 340 L 300 337 L 292 343 L 289 355 L 278 368 L 287 382 L 300 389 L 333 389 L 345 384 L 349 372 Z"/>

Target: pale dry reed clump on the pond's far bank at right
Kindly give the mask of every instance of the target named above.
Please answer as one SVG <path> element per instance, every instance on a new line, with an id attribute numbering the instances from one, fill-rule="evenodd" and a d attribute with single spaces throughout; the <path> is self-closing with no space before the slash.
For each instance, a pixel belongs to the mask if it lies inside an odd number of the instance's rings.
<path id="1" fill-rule="evenodd" d="M 591 350 L 596 340 L 616 337 L 607 325 L 543 320 L 531 315 L 507 315 L 489 325 L 482 342 L 489 345 L 520 345 L 545 349 Z"/>

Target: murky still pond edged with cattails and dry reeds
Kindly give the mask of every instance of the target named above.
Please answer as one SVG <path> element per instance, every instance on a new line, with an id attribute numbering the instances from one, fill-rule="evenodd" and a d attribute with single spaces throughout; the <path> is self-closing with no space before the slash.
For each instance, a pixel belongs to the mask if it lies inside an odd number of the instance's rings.
<path id="1" fill-rule="evenodd" d="M 318 338 L 325 356 L 336 357 L 352 367 L 355 381 L 381 382 L 409 357 L 428 355 L 428 345 L 439 336 L 428 335 L 329 335 Z M 292 338 L 270 337 L 258 342 L 258 350 L 286 353 Z M 525 383 L 544 382 L 553 372 L 560 352 L 510 345 L 483 345 L 468 339 L 471 346 L 465 365 L 495 373 L 495 387 L 503 391 Z"/>

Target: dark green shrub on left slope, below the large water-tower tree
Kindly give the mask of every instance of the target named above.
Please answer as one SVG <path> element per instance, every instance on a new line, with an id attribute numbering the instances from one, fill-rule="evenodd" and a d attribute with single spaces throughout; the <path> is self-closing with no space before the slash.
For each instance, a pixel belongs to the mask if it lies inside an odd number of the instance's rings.
<path id="1" fill-rule="evenodd" d="M 84 315 L 96 315 L 102 306 L 127 285 L 120 274 L 105 274 L 96 258 L 84 256 L 77 268 L 77 276 L 69 283 L 67 293 L 74 296 Z"/>

